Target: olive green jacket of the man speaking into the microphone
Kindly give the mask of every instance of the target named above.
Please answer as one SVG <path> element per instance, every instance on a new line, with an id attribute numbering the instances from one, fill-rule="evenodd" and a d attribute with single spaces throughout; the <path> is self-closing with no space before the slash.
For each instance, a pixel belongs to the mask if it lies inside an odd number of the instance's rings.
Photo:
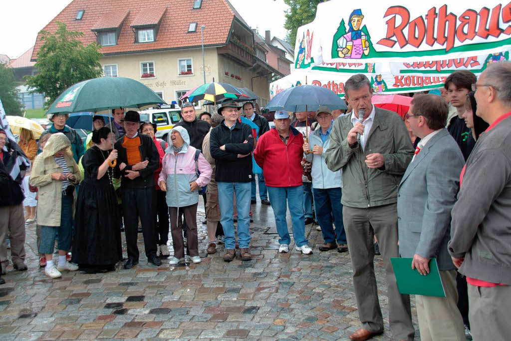
<path id="1" fill-rule="evenodd" d="M 341 203 L 367 208 L 397 202 L 398 185 L 413 156 L 405 123 L 397 113 L 376 108 L 365 150 L 358 142 L 348 145 L 346 137 L 352 128 L 351 113 L 337 118 L 325 152 L 327 167 L 333 172 L 342 169 Z M 384 167 L 366 166 L 366 156 L 373 153 L 383 154 Z"/>

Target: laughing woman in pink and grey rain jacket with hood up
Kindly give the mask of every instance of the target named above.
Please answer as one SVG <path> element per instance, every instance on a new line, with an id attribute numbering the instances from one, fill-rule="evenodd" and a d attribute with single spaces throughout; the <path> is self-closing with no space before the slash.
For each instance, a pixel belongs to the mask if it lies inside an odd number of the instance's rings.
<path id="1" fill-rule="evenodd" d="M 200 263 L 197 237 L 199 187 L 204 187 L 210 182 L 212 168 L 200 150 L 190 146 L 190 137 L 186 129 L 179 126 L 173 127 L 169 136 L 169 147 L 165 149 L 158 178 L 159 187 L 167 192 L 166 199 L 174 245 L 174 257 L 169 264 L 184 262 L 183 234 L 177 226 L 178 210 L 183 212 L 187 222 L 188 251 L 192 262 Z"/>

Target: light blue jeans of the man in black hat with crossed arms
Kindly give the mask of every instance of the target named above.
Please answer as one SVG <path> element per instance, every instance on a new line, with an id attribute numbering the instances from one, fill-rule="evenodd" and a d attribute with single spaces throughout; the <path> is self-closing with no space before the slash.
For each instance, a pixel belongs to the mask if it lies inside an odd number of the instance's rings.
<path id="1" fill-rule="evenodd" d="M 218 182 L 218 203 L 220 205 L 220 223 L 224 230 L 226 249 L 236 248 L 234 237 L 233 202 L 236 193 L 236 209 L 238 210 L 238 240 L 240 248 L 250 246 L 250 183 Z"/>

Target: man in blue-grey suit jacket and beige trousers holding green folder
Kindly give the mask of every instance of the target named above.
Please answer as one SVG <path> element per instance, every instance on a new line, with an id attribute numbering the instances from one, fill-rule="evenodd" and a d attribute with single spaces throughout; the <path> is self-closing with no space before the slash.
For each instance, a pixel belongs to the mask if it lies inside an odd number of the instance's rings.
<path id="1" fill-rule="evenodd" d="M 464 158 L 445 129 L 447 103 L 435 95 L 414 97 L 406 119 L 421 141 L 398 187 L 401 257 L 413 258 L 421 275 L 436 258 L 446 297 L 415 295 L 421 340 L 466 340 L 456 306 L 456 268 L 447 250 L 451 210 L 459 189 Z"/>

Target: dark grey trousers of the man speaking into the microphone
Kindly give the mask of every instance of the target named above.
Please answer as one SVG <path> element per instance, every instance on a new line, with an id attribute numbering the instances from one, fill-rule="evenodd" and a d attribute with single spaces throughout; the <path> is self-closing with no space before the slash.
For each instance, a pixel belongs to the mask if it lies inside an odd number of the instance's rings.
<path id="1" fill-rule="evenodd" d="M 371 208 L 343 206 L 344 230 L 353 266 L 353 284 L 362 328 L 383 331 L 374 268 L 374 235 L 387 272 L 390 331 L 393 339 L 413 340 L 410 297 L 399 293 L 390 257 L 398 257 L 398 213 L 395 203 Z"/>

